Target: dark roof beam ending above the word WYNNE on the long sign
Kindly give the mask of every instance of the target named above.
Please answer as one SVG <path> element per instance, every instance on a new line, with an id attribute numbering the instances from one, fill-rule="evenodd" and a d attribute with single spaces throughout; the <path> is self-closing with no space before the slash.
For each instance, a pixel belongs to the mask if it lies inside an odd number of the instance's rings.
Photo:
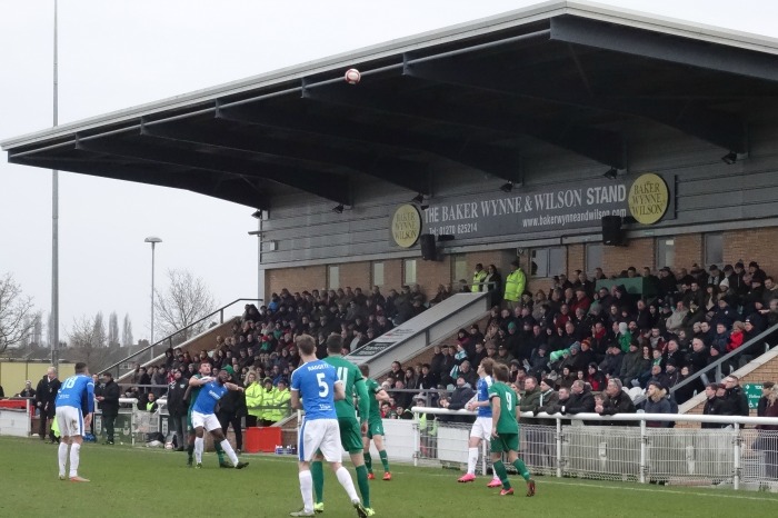
<path id="1" fill-rule="evenodd" d="M 218 108 L 217 117 L 235 122 L 316 135 L 320 138 L 378 145 L 387 148 L 389 152 L 398 149 L 429 152 L 507 180 L 519 181 L 521 178 L 519 153 L 499 146 L 430 137 L 396 129 L 388 130 L 313 113 L 272 109 L 257 103 L 238 108 Z"/>

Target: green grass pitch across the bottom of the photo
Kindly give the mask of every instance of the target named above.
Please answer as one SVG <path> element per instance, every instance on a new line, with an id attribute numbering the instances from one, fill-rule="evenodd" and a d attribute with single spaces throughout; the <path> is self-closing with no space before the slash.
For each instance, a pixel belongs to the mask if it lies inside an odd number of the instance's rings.
<path id="1" fill-rule="evenodd" d="M 129 446 L 88 444 L 79 474 L 90 484 L 57 478 L 57 447 L 36 439 L 0 437 L 0 516 L 77 517 L 283 517 L 301 507 L 297 465 L 291 457 L 246 455 L 245 470 L 219 469 L 207 454 L 200 470 L 186 467 L 186 454 Z M 391 459 L 390 459 L 391 460 Z M 538 477 L 538 495 L 499 497 L 488 481 L 456 482 L 457 471 L 392 466 L 393 480 L 371 481 L 380 517 L 486 518 L 522 516 L 576 518 L 657 516 L 774 516 L 778 495 L 719 489 L 657 487 Z M 326 474 L 321 518 L 353 517 L 335 476 Z"/>

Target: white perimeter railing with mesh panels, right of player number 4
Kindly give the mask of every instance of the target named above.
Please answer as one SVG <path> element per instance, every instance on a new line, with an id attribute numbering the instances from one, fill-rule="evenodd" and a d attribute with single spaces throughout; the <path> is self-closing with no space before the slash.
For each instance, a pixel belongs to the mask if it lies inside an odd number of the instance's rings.
<path id="1" fill-rule="evenodd" d="M 467 464 L 471 425 L 440 418 L 472 418 L 475 412 L 428 407 L 411 410 L 413 419 L 383 420 L 389 458 L 456 469 Z M 533 421 L 521 422 L 520 436 L 520 455 L 533 474 L 778 492 L 778 431 L 744 428 L 778 425 L 778 418 L 641 412 L 525 412 L 521 417 Z M 545 425 L 537 424 L 538 419 Z M 646 426 L 660 420 L 712 422 L 725 428 Z M 490 465 L 488 452 L 488 444 L 482 442 L 482 474 Z"/>

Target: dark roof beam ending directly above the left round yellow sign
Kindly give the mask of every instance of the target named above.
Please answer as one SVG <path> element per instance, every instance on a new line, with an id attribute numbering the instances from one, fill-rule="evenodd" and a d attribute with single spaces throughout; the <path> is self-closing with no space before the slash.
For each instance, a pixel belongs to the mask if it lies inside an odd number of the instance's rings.
<path id="1" fill-rule="evenodd" d="M 141 123 L 141 136 L 187 142 L 213 150 L 249 152 L 253 153 L 258 161 L 280 158 L 342 166 L 415 192 L 430 193 L 430 175 L 426 165 L 370 151 L 338 150 L 319 142 L 300 145 L 267 136 L 255 138 L 227 131 L 203 131 L 182 124 L 146 121 Z"/>

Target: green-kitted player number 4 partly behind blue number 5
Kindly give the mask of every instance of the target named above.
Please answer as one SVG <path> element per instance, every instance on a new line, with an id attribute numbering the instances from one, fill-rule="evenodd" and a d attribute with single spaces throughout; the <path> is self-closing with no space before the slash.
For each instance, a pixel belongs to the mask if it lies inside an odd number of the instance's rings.
<path id="1" fill-rule="evenodd" d="M 338 426 L 340 427 L 340 445 L 351 457 L 351 462 L 357 470 L 357 484 L 362 496 L 362 506 L 368 516 L 376 512 L 370 506 L 370 482 L 368 482 L 368 468 L 365 466 L 362 455 L 362 434 L 368 430 L 368 408 L 369 396 L 365 387 L 365 379 L 359 368 L 345 359 L 341 353 L 343 339 L 340 335 L 332 333 L 327 338 L 327 358 L 323 360 L 336 368 L 338 379 L 343 382 L 346 398 L 335 402 L 335 411 L 338 414 Z M 359 416 L 353 408 L 355 396 L 359 401 Z M 313 510 L 323 512 L 325 470 L 321 464 L 323 456 L 317 452 L 311 462 L 311 477 L 313 478 L 313 494 L 316 502 Z"/>

